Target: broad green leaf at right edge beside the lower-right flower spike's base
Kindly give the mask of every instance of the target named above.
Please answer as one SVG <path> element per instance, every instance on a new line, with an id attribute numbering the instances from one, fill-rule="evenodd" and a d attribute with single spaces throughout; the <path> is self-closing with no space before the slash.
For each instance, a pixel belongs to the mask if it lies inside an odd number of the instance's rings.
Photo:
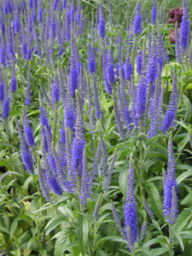
<path id="1" fill-rule="evenodd" d="M 181 212 L 176 220 L 176 223 L 173 225 L 173 230 L 182 231 L 186 224 L 192 217 L 192 210 L 187 208 Z"/>

